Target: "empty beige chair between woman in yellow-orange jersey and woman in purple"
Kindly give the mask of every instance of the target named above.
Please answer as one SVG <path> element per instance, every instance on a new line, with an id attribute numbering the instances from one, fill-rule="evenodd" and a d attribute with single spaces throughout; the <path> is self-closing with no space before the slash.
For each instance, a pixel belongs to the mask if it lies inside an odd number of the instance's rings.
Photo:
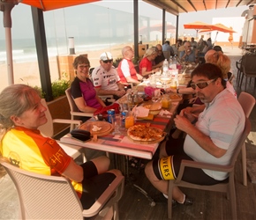
<path id="1" fill-rule="evenodd" d="M 64 124 L 73 124 L 73 125 L 80 125 L 82 121 L 78 120 L 67 120 L 67 119 L 52 119 L 51 114 L 49 112 L 49 108 L 46 104 L 45 99 L 41 99 L 41 104 L 47 108 L 45 111 L 45 115 L 47 118 L 47 122 L 44 125 L 41 125 L 38 129 L 41 131 L 41 134 L 43 136 L 50 136 L 53 137 L 54 130 L 53 130 L 53 123 L 64 123 Z M 78 158 L 80 155 L 82 155 L 83 162 L 87 161 L 86 155 L 85 155 L 85 149 L 79 146 L 69 145 L 66 143 L 60 143 L 57 141 L 57 143 L 64 149 L 64 151 L 71 156 L 72 158 Z"/>

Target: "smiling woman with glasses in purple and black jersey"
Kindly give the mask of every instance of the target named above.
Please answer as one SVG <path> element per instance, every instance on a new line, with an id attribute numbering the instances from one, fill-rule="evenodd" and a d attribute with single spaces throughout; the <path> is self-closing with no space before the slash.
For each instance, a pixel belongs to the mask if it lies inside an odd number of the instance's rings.
<path id="1" fill-rule="evenodd" d="M 73 62 L 76 77 L 71 85 L 72 98 L 81 112 L 94 113 L 106 106 L 97 96 L 94 84 L 89 78 L 90 62 L 84 55 L 79 55 Z"/>

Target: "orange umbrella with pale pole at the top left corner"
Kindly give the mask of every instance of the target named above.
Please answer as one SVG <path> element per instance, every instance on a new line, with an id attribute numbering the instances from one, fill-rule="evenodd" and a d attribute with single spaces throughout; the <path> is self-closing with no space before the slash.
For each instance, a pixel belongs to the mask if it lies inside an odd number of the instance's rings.
<path id="1" fill-rule="evenodd" d="M 0 11 L 4 12 L 4 28 L 5 28 L 5 45 L 6 45 L 6 59 L 8 69 L 8 82 L 14 84 L 13 79 L 13 62 L 12 62 L 12 44 L 11 44 L 11 10 L 19 3 L 28 4 L 42 11 L 49 11 L 60 9 L 78 4 L 87 4 L 101 0 L 1 0 Z"/>

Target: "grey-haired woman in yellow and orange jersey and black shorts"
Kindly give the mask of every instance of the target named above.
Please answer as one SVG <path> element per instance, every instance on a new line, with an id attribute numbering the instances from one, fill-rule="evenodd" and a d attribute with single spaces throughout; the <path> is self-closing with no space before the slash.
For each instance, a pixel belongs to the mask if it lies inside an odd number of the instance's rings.
<path id="1" fill-rule="evenodd" d="M 65 176 L 72 181 L 83 208 L 88 209 L 122 174 L 109 170 L 110 161 L 105 156 L 77 165 L 55 140 L 41 136 L 38 127 L 47 122 L 45 111 L 38 92 L 28 85 L 12 84 L 1 92 L 0 124 L 4 136 L 0 159 L 29 172 Z"/>

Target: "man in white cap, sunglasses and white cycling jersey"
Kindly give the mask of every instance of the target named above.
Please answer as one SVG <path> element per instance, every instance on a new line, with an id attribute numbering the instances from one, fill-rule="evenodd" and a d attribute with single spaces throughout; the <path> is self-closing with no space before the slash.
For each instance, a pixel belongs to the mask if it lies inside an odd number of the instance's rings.
<path id="1" fill-rule="evenodd" d="M 100 66 L 94 68 L 92 79 L 98 95 L 113 95 L 119 99 L 125 95 L 124 84 L 121 83 L 116 68 L 113 66 L 113 57 L 109 52 L 100 56 Z"/>

